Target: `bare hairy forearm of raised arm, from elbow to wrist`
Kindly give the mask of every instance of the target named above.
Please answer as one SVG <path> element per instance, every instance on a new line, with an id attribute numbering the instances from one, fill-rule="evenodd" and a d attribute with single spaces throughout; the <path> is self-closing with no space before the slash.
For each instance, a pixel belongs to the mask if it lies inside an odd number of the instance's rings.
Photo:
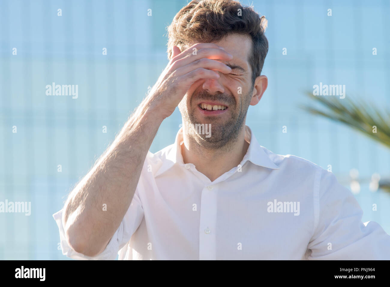
<path id="1" fill-rule="evenodd" d="M 119 227 L 161 121 L 149 102 L 143 101 L 69 195 L 63 222 L 68 242 L 77 252 L 100 253 Z"/>

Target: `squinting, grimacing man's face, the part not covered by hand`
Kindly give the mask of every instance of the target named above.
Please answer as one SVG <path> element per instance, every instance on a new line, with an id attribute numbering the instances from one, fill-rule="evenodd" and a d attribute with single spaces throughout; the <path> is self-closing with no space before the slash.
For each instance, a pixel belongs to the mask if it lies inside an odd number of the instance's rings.
<path id="1" fill-rule="evenodd" d="M 230 66 L 231 73 L 216 71 L 220 74 L 218 80 L 196 81 L 179 103 L 183 129 L 187 129 L 188 124 L 211 124 L 211 136 L 191 136 L 199 144 L 213 149 L 223 147 L 238 138 L 245 124 L 253 93 L 252 69 L 248 63 L 252 39 L 248 35 L 231 34 L 215 44 L 233 55 L 229 61 L 217 59 Z M 190 132 L 193 132 L 191 128 Z"/>

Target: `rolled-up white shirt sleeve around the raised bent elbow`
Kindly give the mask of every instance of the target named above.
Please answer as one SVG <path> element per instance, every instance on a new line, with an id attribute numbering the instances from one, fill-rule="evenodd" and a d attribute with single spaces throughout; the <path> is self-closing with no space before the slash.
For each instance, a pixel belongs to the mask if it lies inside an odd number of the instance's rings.
<path id="1" fill-rule="evenodd" d="M 138 188 L 134 193 L 133 200 L 121 221 L 115 234 L 111 237 L 108 245 L 102 253 L 96 256 L 86 256 L 82 253 L 74 251 L 66 241 L 64 226 L 62 224 L 63 209 L 53 214 L 54 220 L 57 222 L 60 231 L 60 245 L 62 254 L 69 258 L 77 260 L 115 260 L 118 251 L 130 240 L 130 237 L 138 229 L 142 218 L 144 217 L 144 210 L 138 195 Z"/>

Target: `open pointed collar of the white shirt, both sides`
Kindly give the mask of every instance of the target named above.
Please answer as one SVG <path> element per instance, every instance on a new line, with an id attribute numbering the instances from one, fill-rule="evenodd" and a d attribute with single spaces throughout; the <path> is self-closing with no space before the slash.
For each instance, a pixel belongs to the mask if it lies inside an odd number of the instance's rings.
<path id="1" fill-rule="evenodd" d="M 165 159 L 163 159 L 163 163 L 156 172 L 155 176 L 158 176 L 163 172 L 167 171 L 174 164 L 179 164 L 181 166 L 184 165 L 183 156 L 181 154 L 181 144 L 183 144 L 182 129 L 183 128 L 180 128 L 177 132 L 175 143 L 171 145 L 171 149 L 167 150 Z M 255 135 L 252 133 L 252 130 L 248 126 L 245 126 L 245 140 L 249 142 L 249 147 L 243 160 L 241 161 L 241 166 L 244 165 L 246 161 L 250 161 L 260 167 L 279 169 L 279 167 L 275 165 L 275 163 L 269 158 L 268 154 L 264 150 L 265 147 L 262 147 L 257 142 Z"/>

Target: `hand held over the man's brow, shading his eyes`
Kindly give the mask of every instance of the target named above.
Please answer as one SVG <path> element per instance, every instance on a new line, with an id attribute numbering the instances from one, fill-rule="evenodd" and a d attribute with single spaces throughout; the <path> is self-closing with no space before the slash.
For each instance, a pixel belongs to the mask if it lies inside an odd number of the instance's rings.
<path id="1" fill-rule="evenodd" d="M 183 52 L 173 46 L 171 60 L 149 93 L 156 116 L 169 117 L 195 81 L 216 80 L 220 75 L 215 71 L 230 73 L 230 67 L 215 59 L 229 61 L 232 58 L 216 44 L 198 43 Z"/>

